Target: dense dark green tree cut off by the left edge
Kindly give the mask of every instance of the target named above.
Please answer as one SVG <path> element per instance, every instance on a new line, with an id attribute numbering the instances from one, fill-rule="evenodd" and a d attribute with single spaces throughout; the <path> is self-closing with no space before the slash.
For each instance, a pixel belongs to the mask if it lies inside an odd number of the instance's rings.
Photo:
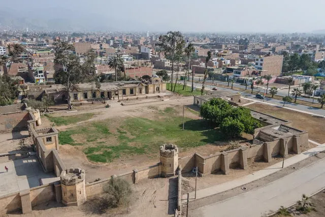
<path id="1" fill-rule="evenodd" d="M 18 95 L 17 82 L 8 75 L 0 75 L 0 106 L 12 104 Z"/>

